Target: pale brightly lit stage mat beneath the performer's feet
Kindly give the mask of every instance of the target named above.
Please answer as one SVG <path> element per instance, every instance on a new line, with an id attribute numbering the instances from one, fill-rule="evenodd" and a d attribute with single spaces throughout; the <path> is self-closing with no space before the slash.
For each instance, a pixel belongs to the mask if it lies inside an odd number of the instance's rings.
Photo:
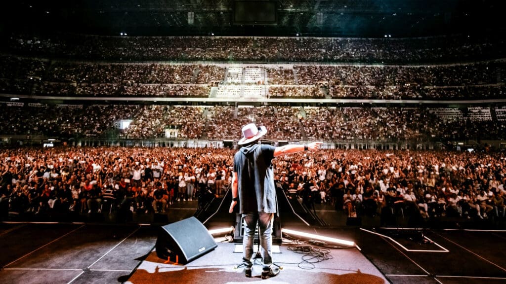
<path id="1" fill-rule="evenodd" d="M 269 281 L 261 279 L 262 265 L 258 260 L 252 277 L 246 278 L 242 254 L 234 253 L 233 243 L 219 243 L 218 247 L 186 264 L 164 263 L 153 251 L 137 268 L 127 283 L 387 283 L 387 279 L 358 249 L 329 249 L 327 260 L 304 256 L 289 250 L 297 245 L 280 245 L 280 253 L 273 254 L 274 263 L 283 269 Z M 305 245 L 307 246 L 307 245 Z M 318 247 L 314 247 L 318 250 Z M 315 252 L 316 253 L 316 252 Z M 323 254 L 322 254 L 322 257 Z M 303 260 L 306 259 L 306 261 Z M 319 261 L 319 262 L 318 262 Z M 314 263 L 313 263 L 314 262 Z"/>

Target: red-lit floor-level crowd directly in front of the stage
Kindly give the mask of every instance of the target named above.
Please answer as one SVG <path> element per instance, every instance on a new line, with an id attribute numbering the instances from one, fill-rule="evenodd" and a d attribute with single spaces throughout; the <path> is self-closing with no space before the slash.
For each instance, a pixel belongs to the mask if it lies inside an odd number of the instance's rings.
<path id="1" fill-rule="evenodd" d="M 24 214 L 130 208 L 222 196 L 234 150 L 210 148 L 20 148 L 0 154 L 0 207 Z M 276 184 L 308 206 L 329 202 L 349 216 L 453 214 L 504 217 L 503 153 L 321 150 L 274 160 Z M 405 212 L 405 213 L 404 213 Z"/>

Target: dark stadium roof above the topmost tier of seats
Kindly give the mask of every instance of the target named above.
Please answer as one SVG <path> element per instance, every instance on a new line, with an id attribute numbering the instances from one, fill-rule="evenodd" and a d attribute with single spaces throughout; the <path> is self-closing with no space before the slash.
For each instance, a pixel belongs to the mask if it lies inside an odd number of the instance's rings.
<path id="1" fill-rule="evenodd" d="M 16 1 L 2 9 L 3 32 L 120 35 L 392 37 L 503 31 L 502 0 L 268 0 L 239 15 L 243 0 Z M 258 3 L 260 2 L 260 3 Z M 256 19 L 265 2 L 272 22 Z M 275 6 L 273 6 L 275 5 Z M 251 7 L 251 6 L 246 6 Z M 265 13 L 269 13 L 268 11 Z M 258 14 L 258 15 L 257 15 Z M 258 18 L 258 17 L 257 17 Z M 193 19 L 193 22 L 192 22 Z"/>

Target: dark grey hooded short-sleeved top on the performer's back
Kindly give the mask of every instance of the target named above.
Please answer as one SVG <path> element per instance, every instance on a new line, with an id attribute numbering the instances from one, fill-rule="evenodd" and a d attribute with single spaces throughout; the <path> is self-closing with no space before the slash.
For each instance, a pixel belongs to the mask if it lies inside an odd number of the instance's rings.
<path id="1" fill-rule="evenodd" d="M 276 148 L 248 145 L 234 156 L 239 187 L 239 213 L 276 213 L 277 200 L 271 160 Z"/>

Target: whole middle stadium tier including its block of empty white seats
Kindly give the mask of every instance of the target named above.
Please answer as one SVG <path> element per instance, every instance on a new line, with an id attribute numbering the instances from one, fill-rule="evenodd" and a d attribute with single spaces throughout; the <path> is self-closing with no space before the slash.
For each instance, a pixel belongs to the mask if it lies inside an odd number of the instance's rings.
<path id="1" fill-rule="evenodd" d="M 0 56 L 5 99 L 503 103 L 506 60 L 453 64 L 105 62 Z"/>

